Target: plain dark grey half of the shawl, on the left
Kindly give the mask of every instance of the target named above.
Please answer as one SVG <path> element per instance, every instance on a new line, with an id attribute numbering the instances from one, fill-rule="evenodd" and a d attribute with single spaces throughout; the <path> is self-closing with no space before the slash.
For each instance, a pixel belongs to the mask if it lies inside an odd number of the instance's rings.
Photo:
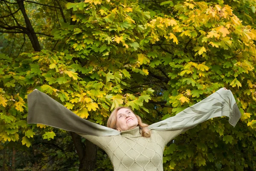
<path id="1" fill-rule="evenodd" d="M 68 110 L 47 94 L 34 90 L 28 95 L 28 124 L 37 123 L 94 136 L 119 135 L 120 132 L 87 121 Z"/>

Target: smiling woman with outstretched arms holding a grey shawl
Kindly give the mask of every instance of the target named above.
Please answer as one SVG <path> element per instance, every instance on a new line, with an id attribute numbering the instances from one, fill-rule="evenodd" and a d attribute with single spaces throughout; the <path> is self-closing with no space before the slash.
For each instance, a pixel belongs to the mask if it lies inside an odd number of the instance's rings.
<path id="1" fill-rule="evenodd" d="M 224 88 L 176 116 L 146 125 L 127 107 L 118 107 L 108 127 L 80 118 L 49 96 L 36 90 L 28 96 L 28 123 L 49 125 L 78 133 L 102 148 L 114 171 L 163 171 L 165 145 L 201 122 L 228 116 L 235 126 L 241 113 L 230 90 Z"/>

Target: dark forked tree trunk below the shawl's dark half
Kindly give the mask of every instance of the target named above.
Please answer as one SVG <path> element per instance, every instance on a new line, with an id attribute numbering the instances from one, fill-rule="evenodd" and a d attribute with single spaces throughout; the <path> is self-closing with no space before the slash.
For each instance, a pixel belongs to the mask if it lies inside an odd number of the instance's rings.
<path id="1" fill-rule="evenodd" d="M 86 140 L 86 146 L 81 142 L 81 137 L 70 132 L 72 136 L 76 152 L 79 157 L 79 171 L 94 171 L 96 164 L 97 147 L 90 141 Z"/>

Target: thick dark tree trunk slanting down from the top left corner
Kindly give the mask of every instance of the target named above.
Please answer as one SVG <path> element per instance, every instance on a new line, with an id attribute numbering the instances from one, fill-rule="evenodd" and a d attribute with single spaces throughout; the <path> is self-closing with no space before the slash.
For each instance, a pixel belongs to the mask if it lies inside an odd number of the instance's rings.
<path id="1" fill-rule="evenodd" d="M 23 17 L 24 17 L 24 20 L 25 20 L 25 23 L 26 23 L 26 29 L 27 29 L 26 31 L 28 31 L 28 33 L 26 33 L 26 34 L 28 35 L 29 40 L 32 43 L 32 46 L 33 46 L 35 51 L 41 51 L 41 46 L 39 44 L 38 37 L 36 36 L 35 31 L 33 29 L 33 26 L 32 26 L 32 24 L 29 20 L 29 17 L 26 14 L 26 10 L 25 10 L 25 7 L 24 7 L 24 1 L 23 0 L 17 0 L 17 3 L 18 3 L 18 6 L 20 8 L 20 11 L 23 14 Z"/>

